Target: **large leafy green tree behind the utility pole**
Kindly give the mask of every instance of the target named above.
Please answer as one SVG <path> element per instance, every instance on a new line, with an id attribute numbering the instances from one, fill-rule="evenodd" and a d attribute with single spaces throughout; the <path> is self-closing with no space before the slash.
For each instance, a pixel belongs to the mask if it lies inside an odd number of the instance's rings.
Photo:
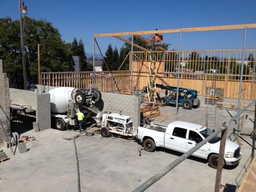
<path id="1" fill-rule="evenodd" d="M 10 17 L 0 18 L 0 59 L 10 83 L 23 87 L 23 66 L 20 45 L 19 21 Z M 58 29 L 45 20 L 24 17 L 24 45 L 27 79 L 37 83 L 37 44 L 40 44 L 42 72 L 72 71 L 72 53 L 69 45 L 61 40 Z"/>

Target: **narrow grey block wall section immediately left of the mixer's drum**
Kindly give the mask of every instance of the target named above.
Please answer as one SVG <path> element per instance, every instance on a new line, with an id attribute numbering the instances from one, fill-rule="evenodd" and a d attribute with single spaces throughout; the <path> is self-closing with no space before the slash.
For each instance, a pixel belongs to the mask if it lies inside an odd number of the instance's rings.
<path id="1" fill-rule="evenodd" d="M 50 94 L 37 95 L 37 121 L 33 123 L 35 132 L 50 129 Z"/>

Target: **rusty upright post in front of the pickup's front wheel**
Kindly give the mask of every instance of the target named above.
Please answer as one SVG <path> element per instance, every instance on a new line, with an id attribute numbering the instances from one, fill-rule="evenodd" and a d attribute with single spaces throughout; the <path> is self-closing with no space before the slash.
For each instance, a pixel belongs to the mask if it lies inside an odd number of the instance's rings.
<path id="1" fill-rule="evenodd" d="M 221 132 L 221 139 L 220 139 L 220 144 L 219 144 L 219 160 L 218 160 L 218 166 L 217 166 L 214 192 L 219 192 L 219 190 L 220 190 L 222 168 L 223 168 L 223 165 L 224 165 L 224 153 L 225 153 L 227 132 L 228 132 L 227 127 L 226 127 L 226 129 L 224 129 Z"/>

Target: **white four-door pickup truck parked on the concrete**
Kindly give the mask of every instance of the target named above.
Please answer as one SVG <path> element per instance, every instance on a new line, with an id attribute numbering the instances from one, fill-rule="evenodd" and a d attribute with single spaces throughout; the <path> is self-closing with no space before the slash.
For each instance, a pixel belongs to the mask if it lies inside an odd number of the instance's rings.
<path id="1" fill-rule="evenodd" d="M 148 152 L 153 152 L 156 147 L 165 147 L 185 153 L 212 133 L 205 126 L 183 121 L 175 121 L 168 126 L 151 122 L 150 126 L 146 128 L 138 127 L 136 137 Z M 217 168 L 219 144 L 220 138 L 215 136 L 192 156 L 207 159 L 210 167 Z M 241 147 L 232 141 L 226 140 L 225 164 L 235 165 L 239 162 L 241 156 Z"/>

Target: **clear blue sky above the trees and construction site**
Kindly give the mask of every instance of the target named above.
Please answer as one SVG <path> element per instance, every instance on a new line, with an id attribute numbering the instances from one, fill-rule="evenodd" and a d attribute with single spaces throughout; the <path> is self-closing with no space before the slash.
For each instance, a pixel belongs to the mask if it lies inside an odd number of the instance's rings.
<path id="1" fill-rule="evenodd" d="M 256 0 L 24 0 L 28 16 L 46 19 L 71 42 L 82 38 L 93 52 L 93 34 L 225 24 L 256 23 Z M 0 17 L 18 19 L 18 0 L 0 0 Z M 243 30 L 194 32 L 183 35 L 183 49 L 237 49 Z M 177 49 L 179 34 L 164 34 Z M 113 37 L 98 38 L 101 48 L 123 44 Z M 256 48 L 256 29 L 247 30 L 246 48 Z M 105 49 L 102 49 L 105 52 Z M 98 52 L 98 51 L 97 51 Z"/>

